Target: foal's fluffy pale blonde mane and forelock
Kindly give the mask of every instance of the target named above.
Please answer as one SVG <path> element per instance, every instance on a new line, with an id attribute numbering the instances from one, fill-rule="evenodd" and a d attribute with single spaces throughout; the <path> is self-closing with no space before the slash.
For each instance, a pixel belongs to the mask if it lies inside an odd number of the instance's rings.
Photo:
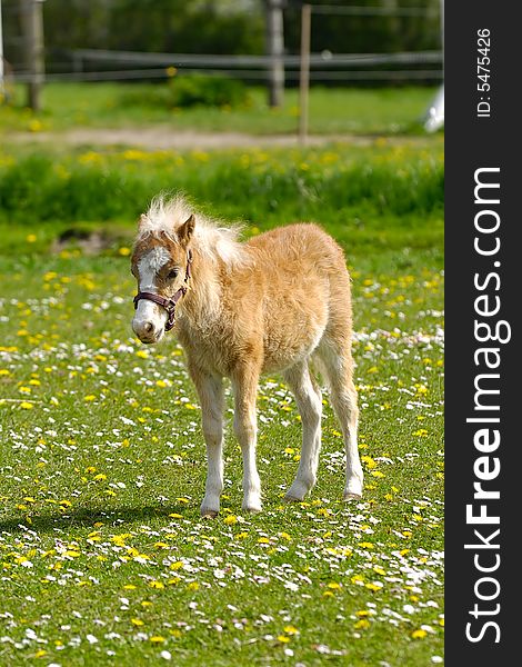
<path id="1" fill-rule="evenodd" d="M 241 226 L 224 227 L 219 220 L 194 211 L 194 207 L 182 195 L 154 197 L 147 213 L 141 217 L 137 242 L 149 236 L 158 238 L 161 232 L 173 242 L 179 242 L 178 230 L 192 213 L 195 215 L 192 242 L 205 259 L 213 262 L 220 259 L 229 267 L 247 262 L 247 252 L 239 241 Z"/>

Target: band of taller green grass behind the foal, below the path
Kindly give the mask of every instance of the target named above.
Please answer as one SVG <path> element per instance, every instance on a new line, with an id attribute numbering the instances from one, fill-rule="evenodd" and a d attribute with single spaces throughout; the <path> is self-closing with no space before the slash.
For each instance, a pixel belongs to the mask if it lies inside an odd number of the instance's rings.
<path id="1" fill-rule="evenodd" d="M 320 221 L 350 252 L 441 247 L 442 139 L 432 137 L 422 145 L 380 138 L 365 147 L 184 153 L 7 147 L 0 152 L 3 251 L 27 250 L 28 237 L 33 250 L 46 250 L 70 228 L 109 230 L 118 251 L 150 199 L 178 190 L 250 228 Z"/>

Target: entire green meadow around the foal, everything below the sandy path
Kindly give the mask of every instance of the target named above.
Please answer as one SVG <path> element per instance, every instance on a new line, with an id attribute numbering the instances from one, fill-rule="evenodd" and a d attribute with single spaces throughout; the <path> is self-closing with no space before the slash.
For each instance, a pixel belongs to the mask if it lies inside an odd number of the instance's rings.
<path id="1" fill-rule="evenodd" d="M 442 175 L 440 137 L 0 150 L 0 665 L 443 661 Z M 318 485 L 283 504 L 300 420 L 273 376 L 258 397 L 263 511 L 241 512 L 229 395 L 222 510 L 200 518 L 205 451 L 182 350 L 130 328 L 135 219 L 161 190 L 241 219 L 244 238 L 305 219 L 345 249 L 361 501 L 341 500 L 325 395 Z M 71 230 L 103 231 L 103 248 Z"/>

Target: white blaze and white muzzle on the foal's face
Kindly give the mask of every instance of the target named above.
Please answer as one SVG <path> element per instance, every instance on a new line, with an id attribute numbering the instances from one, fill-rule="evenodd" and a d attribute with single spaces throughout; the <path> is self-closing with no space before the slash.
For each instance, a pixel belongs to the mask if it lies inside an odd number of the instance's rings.
<path id="1" fill-rule="evenodd" d="M 161 246 L 149 250 L 138 262 L 138 290 L 140 292 L 157 293 L 155 278 L 158 271 L 170 260 L 170 253 L 167 248 Z M 147 299 L 138 301 L 132 328 L 140 338 L 148 335 L 148 325 L 153 326 L 153 331 L 163 331 L 167 322 L 167 311 L 158 303 Z M 150 328 L 150 327 L 149 327 Z"/>

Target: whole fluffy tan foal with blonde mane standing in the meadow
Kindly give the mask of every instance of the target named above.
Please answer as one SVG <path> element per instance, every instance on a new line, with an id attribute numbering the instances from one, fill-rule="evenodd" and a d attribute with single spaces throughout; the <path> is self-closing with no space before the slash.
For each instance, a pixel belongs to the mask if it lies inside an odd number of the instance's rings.
<path id="1" fill-rule="evenodd" d="M 321 391 L 328 382 L 347 452 L 344 499 L 360 498 L 357 391 L 352 380 L 350 277 L 341 248 L 314 225 L 273 229 L 241 243 L 238 230 L 155 199 L 141 216 L 132 255 L 138 280 L 132 328 L 145 344 L 174 326 L 201 404 L 208 476 L 202 516 L 215 516 L 223 489 L 223 378 L 234 395 L 234 431 L 243 456 L 243 509 L 261 509 L 255 466 L 259 377 L 280 371 L 295 396 L 302 451 L 288 501 L 315 484 Z M 175 310 L 175 318 L 174 318 Z"/>

